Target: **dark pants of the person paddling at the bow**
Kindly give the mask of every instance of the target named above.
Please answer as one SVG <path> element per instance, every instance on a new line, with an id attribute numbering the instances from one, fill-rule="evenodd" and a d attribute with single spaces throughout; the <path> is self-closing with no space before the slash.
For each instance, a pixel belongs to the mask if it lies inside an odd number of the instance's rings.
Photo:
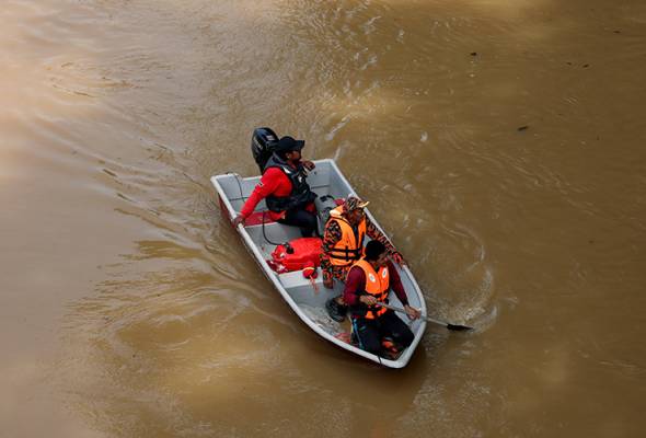
<path id="1" fill-rule="evenodd" d="M 374 320 L 365 318 L 353 318 L 353 330 L 357 334 L 359 348 L 368 353 L 380 355 L 381 339 L 389 336 L 395 344 L 406 348 L 413 343 L 415 335 L 406 323 L 392 310 L 388 310 Z"/>

